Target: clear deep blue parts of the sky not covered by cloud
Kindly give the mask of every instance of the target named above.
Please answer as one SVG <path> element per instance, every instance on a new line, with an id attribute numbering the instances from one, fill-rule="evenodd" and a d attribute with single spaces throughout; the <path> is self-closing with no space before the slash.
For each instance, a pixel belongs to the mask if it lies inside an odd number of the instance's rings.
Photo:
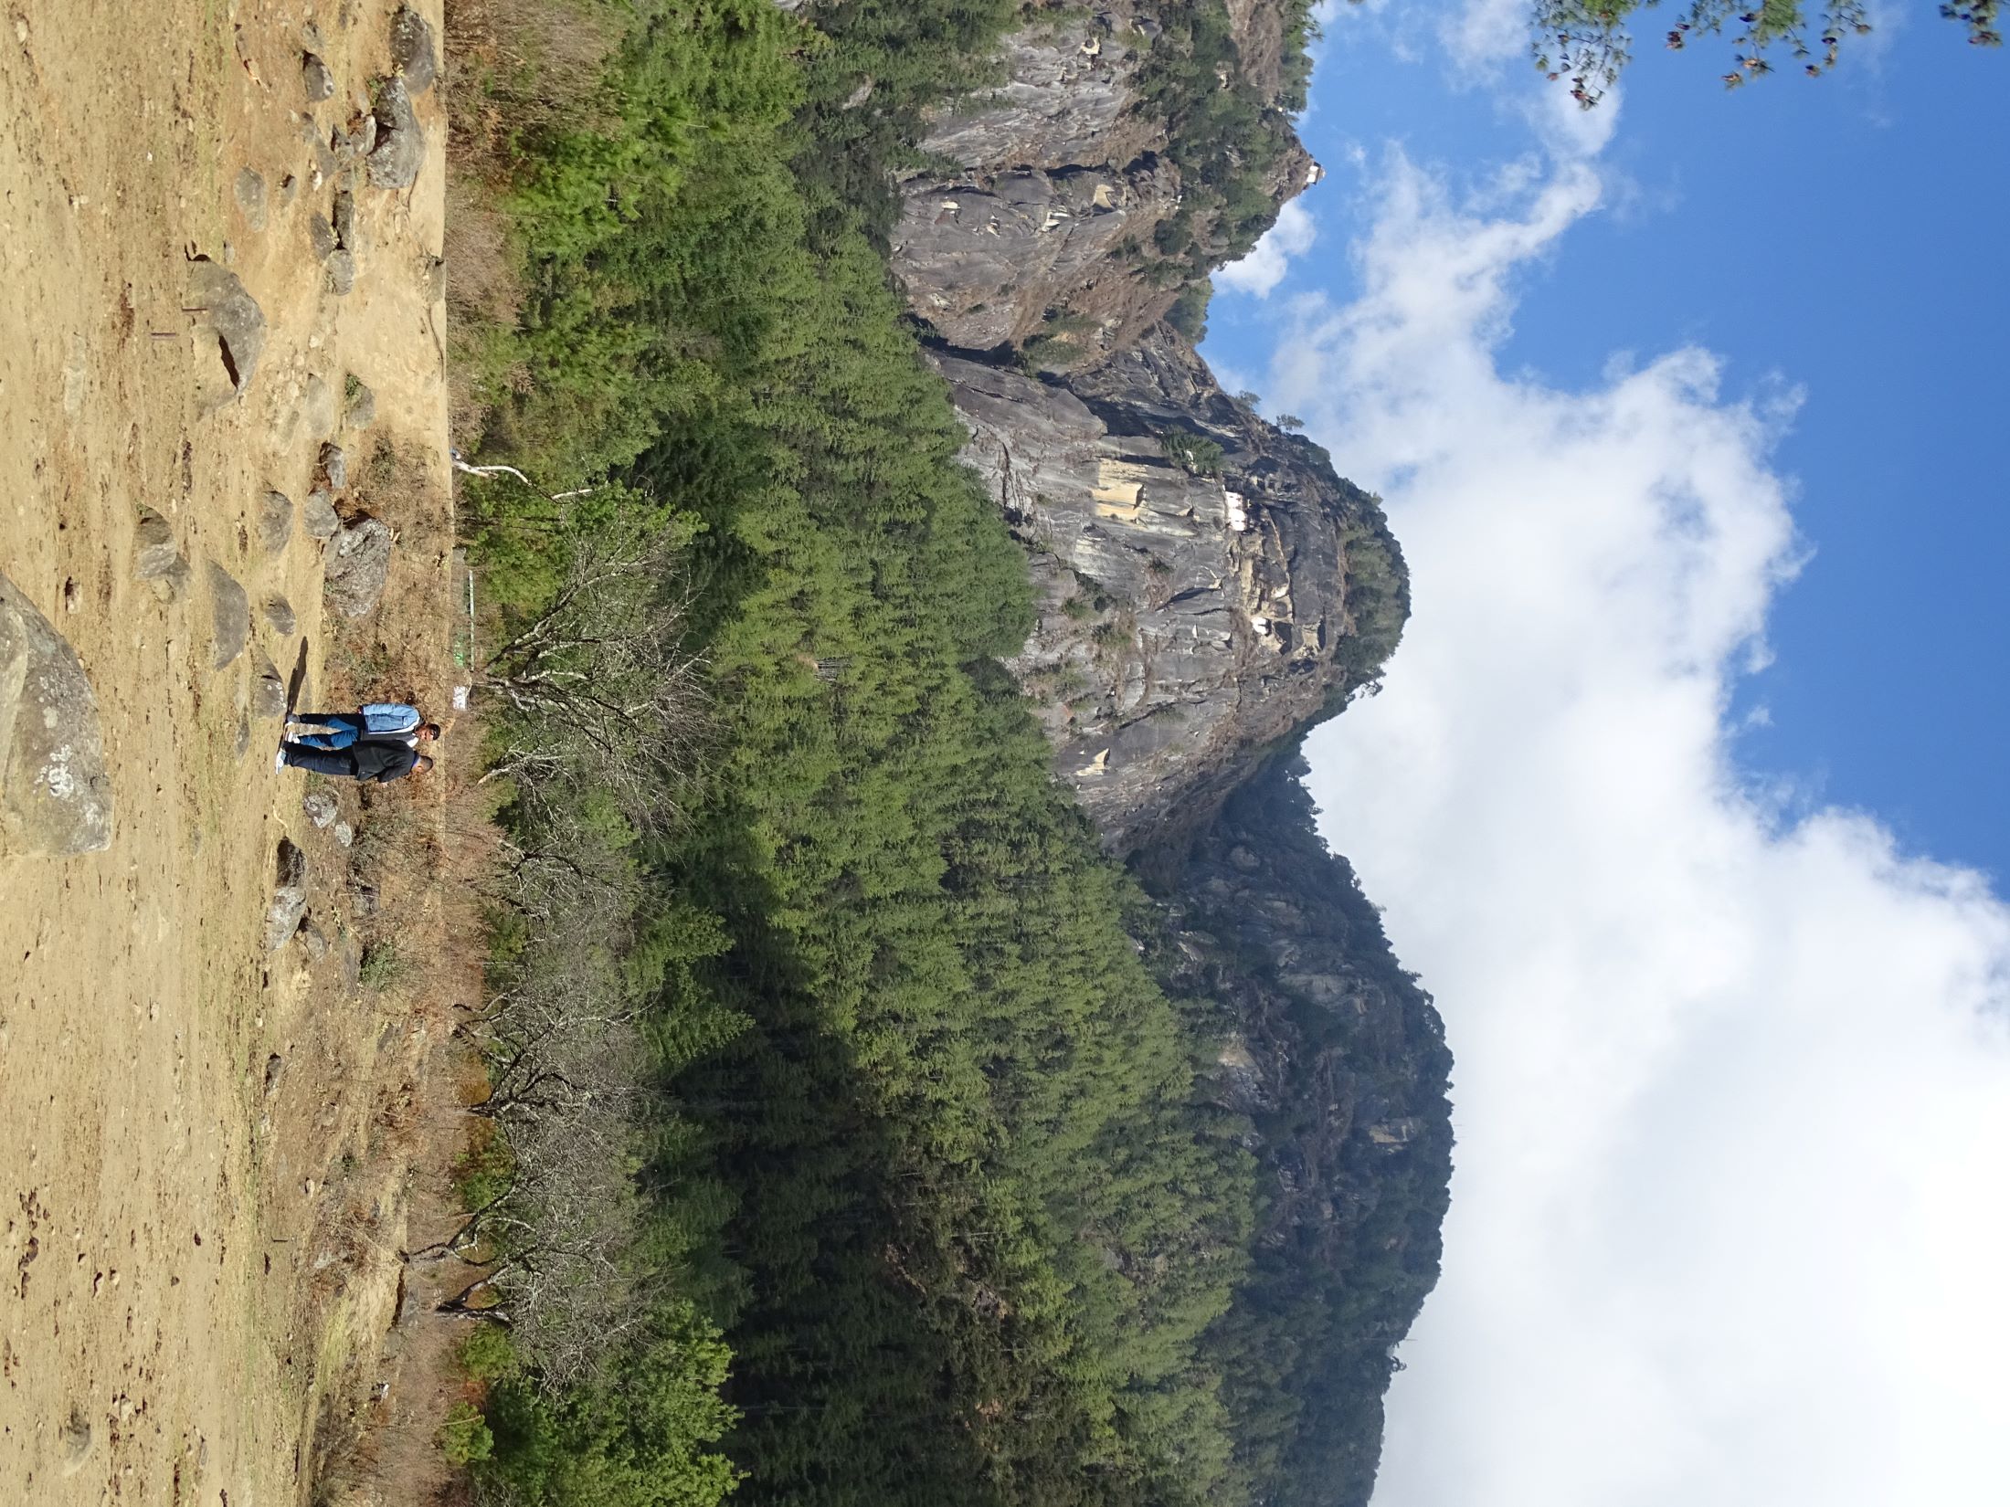
<path id="1" fill-rule="evenodd" d="M 1642 46 L 1604 153 L 1618 187 L 1526 269 L 1501 360 L 1576 384 L 1700 344 L 1727 392 L 1801 394 L 1775 460 L 1811 559 L 1773 603 L 1773 663 L 1737 687 L 1761 709 L 1737 756 L 2010 876 L 2010 56 L 1907 10 L 1829 78 L 1737 94 L 1717 44 Z M 1415 22 L 1335 18 L 1302 123 L 1329 169 L 1300 201 L 1319 251 L 1266 299 L 1216 297 L 1224 370 L 1262 372 L 1292 295 L 1351 295 L 1385 143 L 1455 179 L 1538 149 L 1520 96 Z"/>

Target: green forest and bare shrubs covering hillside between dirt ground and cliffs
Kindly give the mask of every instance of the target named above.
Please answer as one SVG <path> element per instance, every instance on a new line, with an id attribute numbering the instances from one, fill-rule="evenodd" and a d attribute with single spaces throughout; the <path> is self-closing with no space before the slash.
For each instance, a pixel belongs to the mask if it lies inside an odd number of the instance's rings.
<path id="1" fill-rule="evenodd" d="M 874 243 L 1013 16 L 450 8 L 462 446 L 589 488 L 464 506 L 511 862 L 436 1254 L 486 1499 L 1260 1495 L 1220 1009 L 997 663 L 1025 561 Z"/>

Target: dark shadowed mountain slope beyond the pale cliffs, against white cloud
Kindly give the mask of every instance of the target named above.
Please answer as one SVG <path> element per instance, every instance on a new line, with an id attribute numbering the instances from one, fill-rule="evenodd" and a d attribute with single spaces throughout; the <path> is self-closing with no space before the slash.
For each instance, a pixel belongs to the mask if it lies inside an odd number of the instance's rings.
<path id="1" fill-rule="evenodd" d="M 1250 1117 L 1266 1173 L 1254 1272 L 1214 1334 L 1252 1499 L 1359 1507 L 1391 1348 L 1437 1280 L 1451 1053 L 1302 772 L 1272 760 L 1186 852 L 1170 973 L 1222 1009 L 1210 1093 Z"/>

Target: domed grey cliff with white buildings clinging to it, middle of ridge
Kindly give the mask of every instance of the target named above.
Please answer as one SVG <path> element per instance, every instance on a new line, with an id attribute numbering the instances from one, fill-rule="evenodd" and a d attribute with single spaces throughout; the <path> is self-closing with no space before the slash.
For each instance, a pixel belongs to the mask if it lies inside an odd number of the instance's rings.
<path id="1" fill-rule="evenodd" d="M 1033 567 L 1013 669 L 1118 852 L 1190 830 L 1393 647 L 1401 559 L 1375 500 L 1166 326 L 1065 384 L 939 368 Z"/>

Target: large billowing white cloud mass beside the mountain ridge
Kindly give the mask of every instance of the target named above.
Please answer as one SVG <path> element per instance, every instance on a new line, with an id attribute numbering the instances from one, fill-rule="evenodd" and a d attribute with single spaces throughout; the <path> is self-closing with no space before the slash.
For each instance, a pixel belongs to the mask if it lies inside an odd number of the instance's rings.
<path id="1" fill-rule="evenodd" d="M 1791 404 L 1700 350 L 1503 376 L 1596 169 L 1383 177 L 1361 297 L 1296 303 L 1268 384 L 1413 573 L 1387 691 L 1309 747 L 1457 1055 L 1377 1507 L 2000 1503 L 2010 908 L 1731 762 L 1807 559 Z"/>

